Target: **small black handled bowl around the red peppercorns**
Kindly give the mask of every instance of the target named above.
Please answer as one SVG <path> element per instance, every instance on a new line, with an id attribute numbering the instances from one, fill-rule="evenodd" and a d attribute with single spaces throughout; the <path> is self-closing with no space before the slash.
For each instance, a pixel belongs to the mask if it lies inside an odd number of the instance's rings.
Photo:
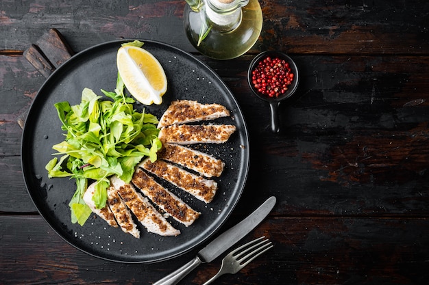
<path id="1" fill-rule="evenodd" d="M 284 94 L 281 94 L 277 97 L 269 97 L 266 94 L 261 94 L 260 92 L 258 92 L 256 87 L 254 87 L 254 84 L 252 83 L 252 72 L 254 71 L 256 66 L 258 66 L 259 62 L 261 62 L 267 57 L 271 57 L 271 59 L 276 57 L 284 59 L 286 62 L 289 63 L 289 68 L 291 68 L 291 72 L 294 74 L 293 81 L 291 82 L 291 85 L 288 86 L 288 90 L 286 90 Z M 258 96 L 258 98 L 265 100 L 269 103 L 269 107 L 271 109 L 271 131 L 273 131 L 274 133 L 278 133 L 278 131 L 280 131 L 278 106 L 280 105 L 280 101 L 285 100 L 286 98 L 290 98 L 297 90 L 299 82 L 299 72 L 297 65 L 295 64 L 293 59 L 289 57 L 289 55 L 286 55 L 286 53 L 282 53 L 281 51 L 264 51 L 259 55 L 256 55 L 256 57 L 250 63 L 249 70 L 247 70 L 247 82 L 249 83 L 249 87 L 252 92 L 256 96 Z"/>

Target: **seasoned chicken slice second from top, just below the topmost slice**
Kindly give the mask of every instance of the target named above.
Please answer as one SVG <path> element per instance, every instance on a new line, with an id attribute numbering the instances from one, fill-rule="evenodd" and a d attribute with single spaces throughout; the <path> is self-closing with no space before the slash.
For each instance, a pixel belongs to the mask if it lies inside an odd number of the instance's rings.
<path id="1" fill-rule="evenodd" d="M 223 144 L 230 139 L 236 126 L 229 124 L 172 125 L 160 129 L 158 137 L 164 143 L 175 144 Z"/>

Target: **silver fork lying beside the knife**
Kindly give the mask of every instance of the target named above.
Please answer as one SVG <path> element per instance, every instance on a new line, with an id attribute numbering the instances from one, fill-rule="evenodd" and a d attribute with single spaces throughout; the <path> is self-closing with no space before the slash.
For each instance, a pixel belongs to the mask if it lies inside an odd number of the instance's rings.
<path id="1" fill-rule="evenodd" d="M 210 280 L 208 280 L 203 285 L 208 285 L 212 283 L 213 281 L 217 280 L 217 277 L 225 273 L 237 273 L 256 257 L 260 256 L 264 252 L 267 252 L 268 249 L 273 247 L 273 243 L 271 243 L 271 241 L 269 241 L 268 239 L 260 241 L 261 239 L 265 239 L 265 236 L 261 236 L 258 239 L 246 243 L 245 245 L 241 245 L 241 247 L 238 247 L 237 249 L 234 249 L 232 252 L 230 252 L 230 254 L 223 258 L 221 269 L 219 270 L 219 272 L 216 273 L 215 276 L 211 277 Z M 245 249 L 245 247 L 248 248 Z"/>

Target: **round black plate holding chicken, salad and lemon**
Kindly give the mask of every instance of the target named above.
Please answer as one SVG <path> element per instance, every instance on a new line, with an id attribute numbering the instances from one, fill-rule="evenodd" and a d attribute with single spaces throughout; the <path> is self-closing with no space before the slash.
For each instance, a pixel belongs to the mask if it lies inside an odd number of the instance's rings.
<path id="1" fill-rule="evenodd" d="M 219 76 L 204 63 L 180 49 L 160 42 L 142 40 L 167 74 L 168 90 L 162 105 L 151 105 L 146 111 L 158 118 L 171 100 L 188 99 L 200 103 L 219 103 L 231 112 L 230 118 L 217 119 L 219 124 L 234 124 L 236 133 L 225 144 L 191 146 L 212 154 L 225 162 L 221 177 L 215 178 L 219 190 L 210 204 L 204 204 L 172 185 L 168 187 L 201 216 L 185 227 L 169 218 L 182 232 L 178 236 L 148 233 L 140 224 L 140 239 L 112 228 L 91 215 L 84 226 L 71 223 L 69 201 L 75 192 L 75 180 L 48 178 L 45 165 L 52 159 L 52 149 L 64 139 L 61 122 L 53 105 L 69 101 L 80 103 L 84 87 L 103 96 L 101 89 L 113 91 L 117 80 L 116 55 L 121 43 L 117 40 L 93 46 L 73 56 L 51 74 L 40 88 L 29 110 L 23 131 L 21 156 L 25 184 L 40 215 L 62 238 L 83 252 L 117 262 L 155 262 L 167 260 L 204 243 L 225 222 L 243 191 L 249 167 L 249 139 L 243 114 Z M 143 109 L 143 105 L 135 105 Z"/>

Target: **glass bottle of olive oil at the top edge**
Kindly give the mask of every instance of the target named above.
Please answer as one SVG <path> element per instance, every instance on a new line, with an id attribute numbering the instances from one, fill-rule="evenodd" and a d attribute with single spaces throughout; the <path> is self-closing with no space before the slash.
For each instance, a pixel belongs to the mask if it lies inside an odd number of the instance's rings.
<path id="1" fill-rule="evenodd" d="M 262 29 L 258 0 L 187 0 L 186 36 L 214 59 L 233 59 L 254 46 Z"/>

